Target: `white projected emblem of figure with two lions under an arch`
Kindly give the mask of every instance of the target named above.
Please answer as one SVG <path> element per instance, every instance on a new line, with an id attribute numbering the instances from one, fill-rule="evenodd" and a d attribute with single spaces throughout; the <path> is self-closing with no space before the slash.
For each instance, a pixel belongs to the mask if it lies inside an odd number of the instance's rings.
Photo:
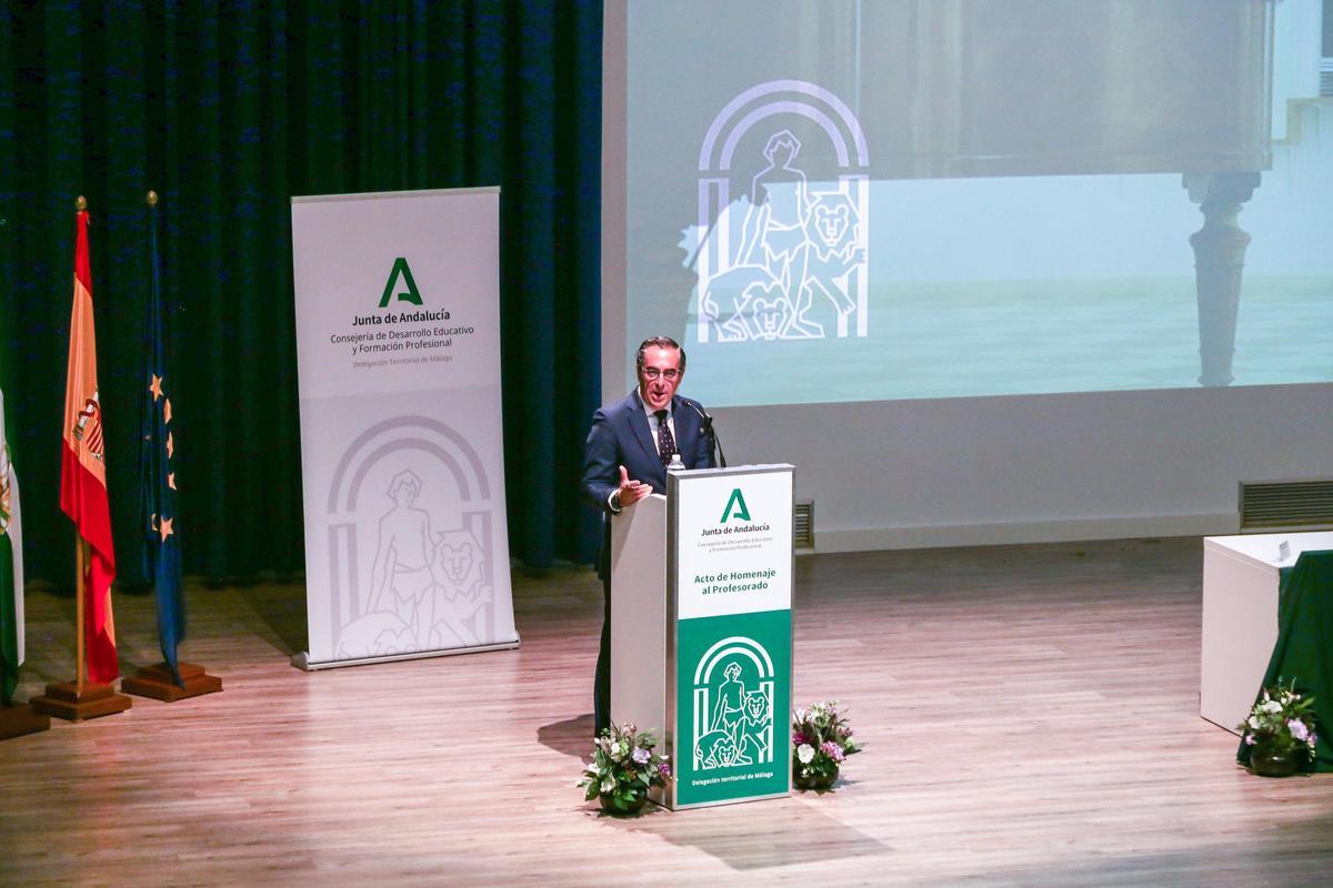
<path id="1" fill-rule="evenodd" d="M 838 160 L 837 181 L 809 182 L 801 140 L 778 125 L 793 116 L 818 124 Z M 736 154 L 741 136 L 765 125 L 773 132 L 764 165 L 730 201 L 734 168 L 753 168 Z M 829 324 L 838 337 L 852 335 L 853 324 L 856 335 L 868 334 L 869 180 L 856 172 L 866 162 L 860 125 L 821 87 L 773 81 L 728 104 L 700 152 L 700 225 L 681 245 L 697 273 L 698 342 L 825 338 Z"/>

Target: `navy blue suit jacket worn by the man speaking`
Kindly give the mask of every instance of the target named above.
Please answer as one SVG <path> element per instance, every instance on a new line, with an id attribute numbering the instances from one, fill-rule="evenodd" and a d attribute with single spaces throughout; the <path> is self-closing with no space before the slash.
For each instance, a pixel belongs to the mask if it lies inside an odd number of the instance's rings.
<path id="1" fill-rule="evenodd" d="M 702 407 L 697 401 L 676 395 L 670 409 L 681 462 L 686 469 L 710 469 L 713 454 L 700 418 Z M 605 513 L 601 555 L 597 558 L 597 575 L 603 579 L 611 574 L 611 507 L 607 499 L 620 486 L 621 466 L 635 481 L 652 485 L 653 493 L 666 493 L 666 470 L 657 455 L 657 442 L 648 430 L 648 417 L 644 415 L 637 389 L 592 414 L 592 430 L 584 450 L 584 498 Z"/>

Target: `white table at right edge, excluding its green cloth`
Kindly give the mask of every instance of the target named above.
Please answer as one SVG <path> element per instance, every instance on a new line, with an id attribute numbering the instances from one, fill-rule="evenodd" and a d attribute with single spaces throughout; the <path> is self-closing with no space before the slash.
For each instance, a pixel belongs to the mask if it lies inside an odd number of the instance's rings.
<path id="1" fill-rule="evenodd" d="M 1202 718 L 1236 734 L 1249 715 L 1277 642 L 1278 571 L 1320 549 L 1333 549 L 1333 531 L 1204 538 Z"/>

